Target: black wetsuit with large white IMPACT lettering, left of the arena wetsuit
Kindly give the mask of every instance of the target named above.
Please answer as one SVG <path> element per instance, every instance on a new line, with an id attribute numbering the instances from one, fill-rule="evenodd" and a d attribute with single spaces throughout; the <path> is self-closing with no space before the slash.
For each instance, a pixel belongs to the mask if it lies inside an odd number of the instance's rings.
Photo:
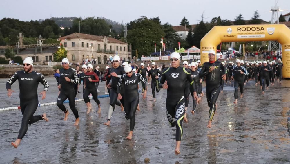
<path id="1" fill-rule="evenodd" d="M 124 84 L 124 88 L 126 92 L 124 93 L 125 101 L 125 118 L 130 119 L 130 131 L 134 130 L 135 127 L 135 113 L 137 110 L 137 106 L 139 104 L 139 93 L 138 93 L 138 84 L 142 82 L 142 84 L 146 83 L 146 80 L 139 73 L 133 73 L 131 77 L 124 74 L 121 76 L 118 86 L 117 93 L 121 93 L 122 84 Z M 147 90 L 146 85 L 144 90 Z"/>

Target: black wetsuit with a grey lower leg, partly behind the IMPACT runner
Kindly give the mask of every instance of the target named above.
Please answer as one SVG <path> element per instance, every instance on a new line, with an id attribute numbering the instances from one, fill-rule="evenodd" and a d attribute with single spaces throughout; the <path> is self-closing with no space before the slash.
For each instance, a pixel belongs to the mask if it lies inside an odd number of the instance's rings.
<path id="1" fill-rule="evenodd" d="M 115 72 L 118 76 L 117 77 L 111 76 L 112 84 L 111 84 L 111 89 L 110 89 L 110 105 L 109 105 L 109 109 L 108 109 L 108 118 L 107 118 L 108 121 L 111 120 L 111 116 L 113 114 L 113 111 L 115 109 L 115 104 L 117 102 L 117 98 L 118 98 L 117 85 L 118 85 L 118 82 L 120 80 L 120 77 L 125 74 L 124 67 L 122 67 L 122 66 L 119 66 L 117 68 L 112 68 L 110 72 L 111 73 Z M 124 93 L 122 91 L 122 88 L 123 87 L 121 87 L 121 95 L 123 95 L 123 93 Z M 122 103 L 123 107 L 125 107 L 124 99 L 121 99 L 121 103 Z"/>

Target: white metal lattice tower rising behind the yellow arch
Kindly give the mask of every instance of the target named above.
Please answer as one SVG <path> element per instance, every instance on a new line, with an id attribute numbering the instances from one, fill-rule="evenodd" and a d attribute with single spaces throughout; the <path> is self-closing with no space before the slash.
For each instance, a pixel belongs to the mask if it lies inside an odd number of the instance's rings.
<path id="1" fill-rule="evenodd" d="M 276 5 L 272 6 L 271 12 L 272 12 L 272 18 L 271 18 L 271 24 L 279 24 L 279 15 L 278 12 L 281 11 L 279 6 L 277 6 L 278 1 L 276 1 Z M 268 51 L 281 51 L 282 47 L 281 44 L 277 41 L 269 41 Z"/>

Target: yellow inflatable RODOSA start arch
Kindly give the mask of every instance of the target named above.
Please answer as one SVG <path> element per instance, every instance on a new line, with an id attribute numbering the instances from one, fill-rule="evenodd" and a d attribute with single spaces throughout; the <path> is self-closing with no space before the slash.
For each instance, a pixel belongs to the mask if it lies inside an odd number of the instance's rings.
<path id="1" fill-rule="evenodd" d="M 284 24 L 215 26 L 200 41 L 202 63 L 220 42 L 276 40 L 282 44 L 283 78 L 290 78 L 290 29 Z"/>

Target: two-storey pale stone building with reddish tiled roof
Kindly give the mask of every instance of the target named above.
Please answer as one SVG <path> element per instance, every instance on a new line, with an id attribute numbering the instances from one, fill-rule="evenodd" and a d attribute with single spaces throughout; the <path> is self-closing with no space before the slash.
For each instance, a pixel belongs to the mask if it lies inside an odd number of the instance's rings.
<path id="1" fill-rule="evenodd" d="M 105 64 L 118 54 L 121 60 L 131 60 L 131 45 L 106 36 L 73 33 L 60 37 L 59 41 L 68 51 L 68 60 L 72 63 L 82 60 L 96 60 L 96 64 Z"/>

